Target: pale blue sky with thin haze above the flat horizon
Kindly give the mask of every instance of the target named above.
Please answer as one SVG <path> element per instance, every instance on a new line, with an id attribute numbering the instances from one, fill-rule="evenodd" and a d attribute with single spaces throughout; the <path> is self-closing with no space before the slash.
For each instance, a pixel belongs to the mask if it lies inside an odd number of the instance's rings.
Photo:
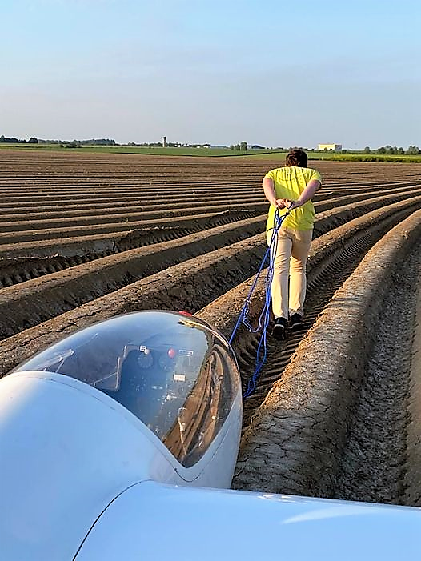
<path id="1" fill-rule="evenodd" d="M 418 0 L 0 0 L 0 134 L 421 145 Z"/>

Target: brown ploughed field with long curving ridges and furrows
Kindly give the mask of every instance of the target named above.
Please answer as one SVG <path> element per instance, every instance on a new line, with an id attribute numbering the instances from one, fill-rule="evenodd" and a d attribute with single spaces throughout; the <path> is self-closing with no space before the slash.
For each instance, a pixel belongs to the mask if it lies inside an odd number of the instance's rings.
<path id="1" fill-rule="evenodd" d="M 142 309 L 188 310 L 229 337 L 266 249 L 262 177 L 279 165 L 1 151 L 1 374 Z M 324 186 L 305 322 L 269 338 L 233 487 L 420 506 L 421 166 L 309 166 Z M 244 387 L 257 344 L 244 329 L 233 342 Z"/>

